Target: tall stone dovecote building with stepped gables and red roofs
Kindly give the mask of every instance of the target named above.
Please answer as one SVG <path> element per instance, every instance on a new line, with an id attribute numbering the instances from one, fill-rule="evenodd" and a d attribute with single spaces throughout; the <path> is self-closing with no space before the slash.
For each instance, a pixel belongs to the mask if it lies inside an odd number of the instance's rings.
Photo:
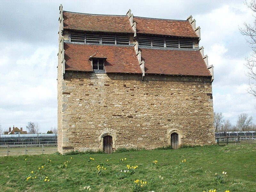
<path id="1" fill-rule="evenodd" d="M 213 66 L 187 20 L 62 10 L 58 150 L 212 144 Z"/>

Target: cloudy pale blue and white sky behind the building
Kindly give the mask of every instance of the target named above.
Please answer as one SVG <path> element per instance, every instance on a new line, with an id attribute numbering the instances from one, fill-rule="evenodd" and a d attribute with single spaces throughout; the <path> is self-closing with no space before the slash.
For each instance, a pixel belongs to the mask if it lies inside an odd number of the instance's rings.
<path id="1" fill-rule="evenodd" d="M 238 30 L 252 23 L 243 1 L 10 1 L 0 0 L 0 122 L 26 127 L 38 122 L 41 131 L 57 127 L 57 52 L 59 5 L 63 10 L 186 20 L 201 27 L 200 46 L 214 65 L 214 111 L 235 124 L 240 113 L 253 116 L 244 57 L 249 45 Z"/>

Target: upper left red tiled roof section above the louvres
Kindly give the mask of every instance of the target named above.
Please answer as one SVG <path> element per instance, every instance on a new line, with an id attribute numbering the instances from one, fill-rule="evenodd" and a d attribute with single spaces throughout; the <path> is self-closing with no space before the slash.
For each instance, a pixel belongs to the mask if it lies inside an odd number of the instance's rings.
<path id="1" fill-rule="evenodd" d="M 134 33 L 126 15 L 93 15 L 63 11 L 64 29 Z"/>

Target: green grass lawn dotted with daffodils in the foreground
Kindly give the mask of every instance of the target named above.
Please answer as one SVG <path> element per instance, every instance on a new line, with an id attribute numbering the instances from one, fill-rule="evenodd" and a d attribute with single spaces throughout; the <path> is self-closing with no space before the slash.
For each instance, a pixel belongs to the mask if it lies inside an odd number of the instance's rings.
<path id="1" fill-rule="evenodd" d="M 88 162 L 89 157 L 95 160 Z M 47 162 L 48 158 L 52 160 L 51 163 Z M 120 158 L 127 159 L 120 163 Z M 183 159 L 186 159 L 184 165 L 178 166 Z M 68 160 L 70 163 L 65 168 L 63 162 Z M 158 162 L 151 166 L 154 160 Z M 107 168 L 100 175 L 96 170 L 98 164 Z M 120 177 L 120 170 L 127 170 L 127 164 L 138 165 L 138 169 L 132 175 L 126 173 Z M 42 165 L 44 169 L 37 172 Z M 31 171 L 36 172 L 37 178 L 26 181 Z M 225 183 L 218 183 L 215 173 L 221 174 L 222 171 L 227 172 Z M 116 174 L 119 174 L 119 179 Z M 159 178 L 160 175 L 164 177 L 163 180 Z M 0 176 L 0 191 L 74 192 L 84 191 L 85 186 L 91 186 L 91 191 L 131 191 L 137 179 L 148 182 L 142 188 L 145 192 L 203 192 L 209 189 L 217 189 L 217 192 L 255 191 L 256 148 L 255 145 L 213 145 L 113 154 L 8 156 L 0 157 Z M 46 176 L 49 182 L 44 182 Z"/>

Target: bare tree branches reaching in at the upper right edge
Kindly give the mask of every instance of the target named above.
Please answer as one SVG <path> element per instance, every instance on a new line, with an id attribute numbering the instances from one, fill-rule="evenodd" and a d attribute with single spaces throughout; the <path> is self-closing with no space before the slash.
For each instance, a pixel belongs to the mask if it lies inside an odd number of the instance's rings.
<path id="1" fill-rule="evenodd" d="M 250 3 L 245 1 L 245 4 L 254 13 L 256 13 L 256 1 L 252 0 Z M 248 92 L 256 97 L 256 17 L 254 17 L 253 24 L 244 23 L 244 28 L 239 28 L 242 35 L 246 36 L 246 41 L 252 48 L 252 53 L 245 58 L 245 66 L 249 69 L 247 76 L 250 78 Z"/>

